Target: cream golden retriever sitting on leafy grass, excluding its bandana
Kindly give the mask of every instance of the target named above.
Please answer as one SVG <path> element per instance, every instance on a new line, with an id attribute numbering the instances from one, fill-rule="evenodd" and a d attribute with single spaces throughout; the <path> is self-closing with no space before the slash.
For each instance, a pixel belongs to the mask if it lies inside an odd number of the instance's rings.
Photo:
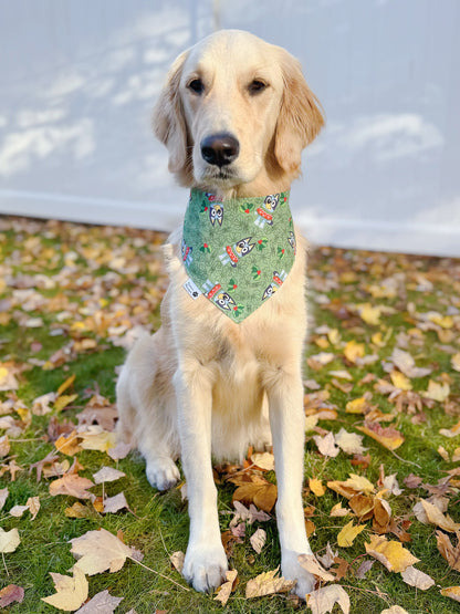
<path id="1" fill-rule="evenodd" d="M 289 190 L 322 125 L 299 62 L 238 30 L 179 55 L 154 111 L 169 170 L 224 207 Z M 144 456 L 150 485 L 171 488 L 180 457 L 190 516 L 182 573 L 197 591 L 217 587 L 228 569 L 211 457 L 242 460 L 249 445 L 273 446 L 282 574 L 297 581 L 303 599 L 314 587 L 297 560 L 312 551 L 302 503 L 306 244 L 295 238 L 295 259 L 276 293 L 234 322 L 185 290 L 182 229 L 172 232 L 164 248 L 170 283 L 161 327 L 136 342 L 118 378 L 118 430 Z"/>

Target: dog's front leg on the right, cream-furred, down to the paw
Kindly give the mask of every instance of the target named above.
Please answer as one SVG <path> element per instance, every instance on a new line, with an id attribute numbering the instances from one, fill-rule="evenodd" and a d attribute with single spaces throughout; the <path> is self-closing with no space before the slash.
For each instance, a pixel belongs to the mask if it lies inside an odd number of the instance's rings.
<path id="1" fill-rule="evenodd" d="M 297 560 L 299 554 L 312 554 L 302 504 L 305 414 L 300 370 L 276 370 L 266 393 L 278 482 L 281 571 L 284 577 L 297 581 L 294 591 L 305 599 L 315 579 Z"/>

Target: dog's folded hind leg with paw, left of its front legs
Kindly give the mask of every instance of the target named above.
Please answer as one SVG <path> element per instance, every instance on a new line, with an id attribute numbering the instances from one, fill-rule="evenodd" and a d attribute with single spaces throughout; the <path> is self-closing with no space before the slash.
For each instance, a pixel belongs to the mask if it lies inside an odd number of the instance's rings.
<path id="1" fill-rule="evenodd" d="M 117 383 L 118 434 L 139 449 L 146 476 L 158 490 L 180 478 L 176 398 L 171 383 L 175 365 L 163 353 L 164 331 L 140 337 L 130 351 Z"/>

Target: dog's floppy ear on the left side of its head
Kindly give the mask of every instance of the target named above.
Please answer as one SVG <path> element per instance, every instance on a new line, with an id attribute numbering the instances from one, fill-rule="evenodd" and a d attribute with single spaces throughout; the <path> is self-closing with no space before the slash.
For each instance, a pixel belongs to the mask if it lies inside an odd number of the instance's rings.
<path id="1" fill-rule="evenodd" d="M 166 145 L 169 153 L 168 168 L 184 181 L 188 175 L 188 133 L 179 94 L 180 77 L 188 52 L 181 53 L 172 63 L 154 108 L 155 136 Z"/>

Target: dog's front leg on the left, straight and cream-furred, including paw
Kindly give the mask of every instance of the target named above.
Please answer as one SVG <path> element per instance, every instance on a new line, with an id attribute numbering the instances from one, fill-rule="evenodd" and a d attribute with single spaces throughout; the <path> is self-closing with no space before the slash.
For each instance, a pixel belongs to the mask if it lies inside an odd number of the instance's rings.
<path id="1" fill-rule="evenodd" d="M 228 569 L 220 539 L 211 466 L 212 377 L 198 362 L 175 375 L 182 469 L 187 480 L 190 537 L 184 576 L 197 591 L 219 586 Z"/>

